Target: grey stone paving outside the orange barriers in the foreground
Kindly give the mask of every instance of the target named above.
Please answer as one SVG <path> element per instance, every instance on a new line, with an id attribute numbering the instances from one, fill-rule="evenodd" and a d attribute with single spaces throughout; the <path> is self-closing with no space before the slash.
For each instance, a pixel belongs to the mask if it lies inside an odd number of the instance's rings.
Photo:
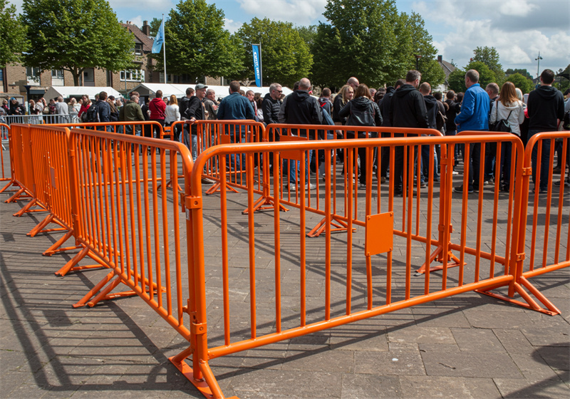
<path id="1" fill-rule="evenodd" d="M 141 299 L 71 307 L 106 271 L 54 276 L 70 256 L 41 256 L 60 236 L 26 237 L 39 214 L 12 217 L 22 206 L 0 203 L 1 396 L 201 398 L 167 360 L 185 341 Z M 218 358 L 212 368 L 225 395 L 242 399 L 568 398 L 569 269 L 532 281 L 561 316 L 468 293 Z"/>

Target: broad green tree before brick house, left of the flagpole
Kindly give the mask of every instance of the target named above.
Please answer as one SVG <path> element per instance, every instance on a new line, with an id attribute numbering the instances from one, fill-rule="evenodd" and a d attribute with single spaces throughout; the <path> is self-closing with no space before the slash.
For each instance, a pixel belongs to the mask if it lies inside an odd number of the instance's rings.
<path id="1" fill-rule="evenodd" d="M 26 66 L 63 69 L 73 83 L 86 68 L 120 71 L 133 66 L 133 35 L 105 0 L 24 0 L 22 21 L 31 49 Z"/>

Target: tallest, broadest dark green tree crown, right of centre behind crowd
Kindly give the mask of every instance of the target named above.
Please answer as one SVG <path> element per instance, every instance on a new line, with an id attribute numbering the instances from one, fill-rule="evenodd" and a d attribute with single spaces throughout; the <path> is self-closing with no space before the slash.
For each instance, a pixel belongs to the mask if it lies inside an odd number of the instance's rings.
<path id="1" fill-rule="evenodd" d="M 391 85 L 415 68 L 415 55 L 424 80 L 444 80 L 423 19 L 398 13 L 395 1 L 328 0 L 323 16 L 328 23 L 319 24 L 311 48 L 316 84 L 339 87 L 356 76 L 369 86 Z"/>

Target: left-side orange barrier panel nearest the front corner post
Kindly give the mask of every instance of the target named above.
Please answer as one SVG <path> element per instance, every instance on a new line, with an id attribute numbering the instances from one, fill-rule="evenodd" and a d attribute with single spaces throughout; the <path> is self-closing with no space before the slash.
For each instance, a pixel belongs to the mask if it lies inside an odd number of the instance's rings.
<path id="1" fill-rule="evenodd" d="M 189 339 L 183 321 L 189 294 L 182 284 L 182 193 L 167 190 L 165 182 L 169 169 L 175 179 L 190 175 L 190 152 L 166 140 L 82 129 L 71 130 L 68 150 L 77 239 L 112 270 L 90 291 L 96 294 L 110 282 L 89 304 L 125 284 Z"/>

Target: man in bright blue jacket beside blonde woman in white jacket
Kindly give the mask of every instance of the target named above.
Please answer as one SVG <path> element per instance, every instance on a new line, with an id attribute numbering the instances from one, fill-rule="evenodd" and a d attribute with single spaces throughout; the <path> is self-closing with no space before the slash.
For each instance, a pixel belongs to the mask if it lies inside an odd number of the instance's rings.
<path id="1" fill-rule="evenodd" d="M 479 72 L 470 69 L 465 73 L 465 97 L 461 112 L 455 117 L 457 133 L 464 130 L 489 130 L 489 95 L 479 86 Z M 467 192 L 479 191 L 481 145 L 469 145 L 469 187 Z M 467 161 L 463 160 L 464 165 Z M 455 187 L 456 192 L 463 192 L 463 186 Z"/>

